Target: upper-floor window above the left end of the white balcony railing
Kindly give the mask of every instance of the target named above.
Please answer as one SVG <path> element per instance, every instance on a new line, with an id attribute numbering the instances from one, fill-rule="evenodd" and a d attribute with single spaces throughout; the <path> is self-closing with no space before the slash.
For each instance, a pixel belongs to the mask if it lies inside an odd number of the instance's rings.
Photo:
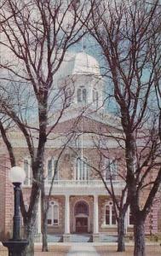
<path id="1" fill-rule="evenodd" d="M 58 180 L 58 160 L 53 157 L 48 160 L 48 180 L 51 181 L 55 175 L 55 180 Z"/>

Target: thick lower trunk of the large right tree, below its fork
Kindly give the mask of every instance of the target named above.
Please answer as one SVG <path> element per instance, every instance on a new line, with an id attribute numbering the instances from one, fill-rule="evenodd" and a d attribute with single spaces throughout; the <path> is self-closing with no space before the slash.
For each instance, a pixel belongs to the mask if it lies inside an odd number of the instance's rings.
<path id="1" fill-rule="evenodd" d="M 142 220 L 141 218 L 135 219 L 134 236 L 135 236 L 134 256 L 146 256 L 144 220 Z"/>

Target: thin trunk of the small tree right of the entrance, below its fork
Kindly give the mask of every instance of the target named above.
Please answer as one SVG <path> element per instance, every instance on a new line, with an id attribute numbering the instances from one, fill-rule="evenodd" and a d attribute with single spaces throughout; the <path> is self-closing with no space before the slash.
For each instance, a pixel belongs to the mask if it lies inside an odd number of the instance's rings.
<path id="1" fill-rule="evenodd" d="M 125 251 L 124 244 L 124 218 L 125 214 L 122 212 L 118 218 L 118 252 Z"/>

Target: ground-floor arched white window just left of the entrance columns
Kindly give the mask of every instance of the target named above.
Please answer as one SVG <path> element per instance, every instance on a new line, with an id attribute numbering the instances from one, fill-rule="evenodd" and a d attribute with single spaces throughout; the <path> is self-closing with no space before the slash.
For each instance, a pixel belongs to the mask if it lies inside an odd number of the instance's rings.
<path id="1" fill-rule="evenodd" d="M 59 224 L 59 205 L 54 201 L 49 204 L 48 211 L 48 225 L 58 225 Z"/>

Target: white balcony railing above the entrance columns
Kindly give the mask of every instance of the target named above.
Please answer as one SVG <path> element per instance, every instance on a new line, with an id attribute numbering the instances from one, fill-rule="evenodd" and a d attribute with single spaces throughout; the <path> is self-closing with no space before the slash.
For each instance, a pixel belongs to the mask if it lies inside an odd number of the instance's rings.
<path id="1" fill-rule="evenodd" d="M 46 186 L 50 186 L 51 181 L 46 181 Z M 120 180 L 113 180 L 113 186 L 123 186 L 124 182 Z M 101 180 L 55 180 L 54 186 L 94 186 L 94 187 L 105 187 L 105 184 Z M 110 181 L 106 181 L 106 185 L 110 186 Z"/>

